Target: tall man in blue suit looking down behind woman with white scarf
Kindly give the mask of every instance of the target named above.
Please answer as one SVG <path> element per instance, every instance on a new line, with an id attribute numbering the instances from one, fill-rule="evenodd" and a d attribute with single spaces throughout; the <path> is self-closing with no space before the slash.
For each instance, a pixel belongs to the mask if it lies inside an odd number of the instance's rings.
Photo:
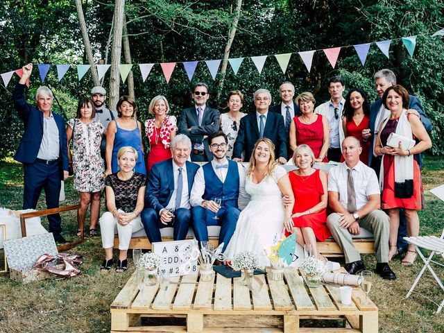
<path id="1" fill-rule="evenodd" d="M 375 142 L 377 133 L 381 123 L 390 114 L 389 110 L 386 110 L 382 105 L 382 95 L 388 87 L 396 85 L 396 76 L 390 69 L 381 69 L 377 71 L 375 76 L 376 92 L 379 95 L 379 99 L 370 105 L 370 128 L 362 131 L 362 137 L 369 139 L 371 142 L 370 153 L 368 154 L 368 166 L 375 170 L 377 177 L 379 178 L 379 169 L 381 168 L 381 156 L 376 156 L 373 153 L 375 148 Z M 416 110 L 420 116 L 422 125 L 424 125 L 427 132 L 432 130 L 432 121 L 427 118 L 424 110 L 422 110 L 421 101 L 416 96 L 409 95 L 409 109 Z M 421 155 L 418 155 L 418 164 L 421 167 Z M 407 237 L 407 221 L 405 219 L 404 211 L 400 212 L 400 226 L 398 229 L 398 253 L 404 253 L 407 250 L 407 241 L 403 237 Z"/>

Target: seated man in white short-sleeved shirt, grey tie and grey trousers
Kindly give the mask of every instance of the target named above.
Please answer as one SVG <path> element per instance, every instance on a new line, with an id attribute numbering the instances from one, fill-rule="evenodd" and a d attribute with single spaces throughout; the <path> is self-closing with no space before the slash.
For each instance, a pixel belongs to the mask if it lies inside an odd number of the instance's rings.
<path id="1" fill-rule="evenodd" d="M 327 217 L 327 227 L 345 256 L 345 269 L 356 274 L 365 268 L 361 255 L 350 234 L 360 234 L 361 226 L 375 237 L 376 273 L 386 280 L 396 275 L 388 266 L 388 216 L 379 210 L 381 197 L 376 173 L 359 161 L 362 148 L 355 137 L 342 142 L 345 161 L 330 169 L 328 177 L 328 203 L 334 213 Z"/>

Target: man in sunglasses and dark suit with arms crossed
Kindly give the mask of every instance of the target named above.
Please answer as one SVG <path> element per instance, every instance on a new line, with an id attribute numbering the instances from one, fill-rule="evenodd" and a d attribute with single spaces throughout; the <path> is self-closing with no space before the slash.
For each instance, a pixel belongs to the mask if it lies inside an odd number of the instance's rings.
<path id="1" fill-rule="evenodd" d="M 209 97 L 207 83 L 196 83 L 191 94 L 194 106 L 182 110 L 180 114 L 179 133 L 191 139 L 193 162 L 208 162 L 213 159 L 208 148 L 208 135 L 216 133 L 221 127 L 221 114 L 207 106 Z"/>

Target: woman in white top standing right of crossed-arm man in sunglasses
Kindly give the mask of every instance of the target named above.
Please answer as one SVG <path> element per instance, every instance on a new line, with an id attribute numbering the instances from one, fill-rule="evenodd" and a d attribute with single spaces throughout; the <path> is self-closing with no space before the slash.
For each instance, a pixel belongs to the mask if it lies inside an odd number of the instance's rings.
<path id="1" fill-rule="evenodd" d="M 242 105 L 244 104 L 244 94 L 239 92 L 239 90 L 229 92 L 227 104 L 230 111 L 221 114 L 221 130 L 228 137 L 227 158 L 231 159 L 241 118 L 246 116 L 246 113 L 241 112 Z"/>

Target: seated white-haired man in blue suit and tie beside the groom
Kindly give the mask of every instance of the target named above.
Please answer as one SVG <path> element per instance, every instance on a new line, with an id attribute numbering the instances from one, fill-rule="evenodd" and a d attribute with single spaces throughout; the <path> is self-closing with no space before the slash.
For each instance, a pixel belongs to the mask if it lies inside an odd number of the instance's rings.
<path id="1" fill-rule="evenodd" d="M 191 220 L 189 194 L 199 167 L 188 162 L 191 140 L 183 134 L 171 141 L 173 158 L 153 165 L 148 173 L 145 209 L 141 218 L 151 243 L 162 241 L 160 229 L 173 226 L 174 240 L 187 236 Z"/>

